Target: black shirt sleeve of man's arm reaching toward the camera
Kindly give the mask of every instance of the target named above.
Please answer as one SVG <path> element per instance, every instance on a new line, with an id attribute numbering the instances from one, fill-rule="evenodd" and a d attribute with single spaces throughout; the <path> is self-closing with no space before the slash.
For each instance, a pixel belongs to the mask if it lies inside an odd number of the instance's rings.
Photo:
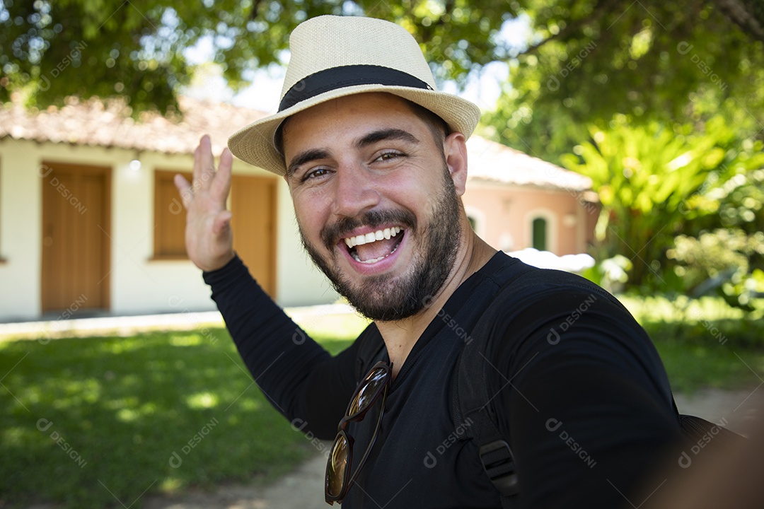
<path id="1" fill-rule="evenodd" d="M 494 385 L 523 507 L 639 507 L 679 443 L 652 342 L 597 295 L 547 294 L 523 308 L 521 323 L 498 329 L 507 375 Z"/>

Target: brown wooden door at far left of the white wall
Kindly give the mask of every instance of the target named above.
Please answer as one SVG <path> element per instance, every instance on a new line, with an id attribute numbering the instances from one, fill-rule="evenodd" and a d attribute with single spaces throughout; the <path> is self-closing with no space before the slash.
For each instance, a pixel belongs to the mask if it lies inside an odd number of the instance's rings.
<path id="1" fill-rule="evenodd" d="M 111 169 L 43 163 L 40 176 L 42 311 L 108 309 Z"/>

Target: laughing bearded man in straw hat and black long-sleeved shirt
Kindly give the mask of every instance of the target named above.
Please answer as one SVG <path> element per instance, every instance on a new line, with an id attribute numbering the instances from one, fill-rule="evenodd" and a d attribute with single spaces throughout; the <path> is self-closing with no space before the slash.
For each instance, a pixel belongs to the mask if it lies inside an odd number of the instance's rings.
<path id="1" fill-rule="evenodd" d="M 231 247 L 231 153 L 215 172 L 203 137 L 193 185 L 176 185 L 189 257 L 254 379 L 296 427 L 335 437 L 326 500 L 501 507 L 492 479 L 507 472 L 486 475 L 465 439 L 474 423 L 455 420 L 450 403 L 469 332 L 496 301 L 490 337 L 478 338 L 490 345 L 485 375 L 475 375 L 490 392 L 481 411 L 495 413 L 513 449 L 520 504 L 639 505 L 679 429 L 665 372 L 601 288 L 524 266 L 471 230 L 459 197 L 478 108 L 435 90 L 416 41 L 395 24 L 313 18 L 290 48 L 279 113 L 229 147 L 284 176 L 307 252 L 374 323 L 336 357 L 293 341 L 299 329 Z"/>

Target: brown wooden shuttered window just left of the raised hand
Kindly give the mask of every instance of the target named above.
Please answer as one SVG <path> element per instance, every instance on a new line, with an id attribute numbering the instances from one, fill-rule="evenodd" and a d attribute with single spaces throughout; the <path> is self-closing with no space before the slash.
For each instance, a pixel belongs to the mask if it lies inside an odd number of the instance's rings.
<path id="1" fill-rule="evenodd" d="M 186 259 L 186 209 L 180 201 L 173 177 L 189 172 L 154 172 L 154 259 Z"/>

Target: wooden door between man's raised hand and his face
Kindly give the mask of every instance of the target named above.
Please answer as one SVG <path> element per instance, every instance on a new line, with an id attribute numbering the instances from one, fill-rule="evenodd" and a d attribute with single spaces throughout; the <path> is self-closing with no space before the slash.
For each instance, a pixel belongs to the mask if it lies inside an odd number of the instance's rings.
<path id="1" fill-rule="evenodd" d="M 257 283 L 276 297 L 276 179 L 231 179 L 234 249 Z"/>

